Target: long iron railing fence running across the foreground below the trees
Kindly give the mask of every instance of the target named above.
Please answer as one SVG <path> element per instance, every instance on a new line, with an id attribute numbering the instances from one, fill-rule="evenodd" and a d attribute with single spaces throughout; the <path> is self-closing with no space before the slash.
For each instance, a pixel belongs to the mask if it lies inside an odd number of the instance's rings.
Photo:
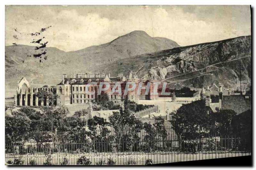
<path id="1" fill-rule="evenodd" d="M 165 135 L 142 130 L 119 138 L 113 129 L 6 135 L 5 161 L 21 161 L 24 165 L 99 165 L 113 160 L 115 165 L 145 165 L 151 161 L 158 164 L 251 155 L 249 135 L 227 130 L 225 134 L 212 131 L 180 138 L 172 128 L 165 130 Z"/>

